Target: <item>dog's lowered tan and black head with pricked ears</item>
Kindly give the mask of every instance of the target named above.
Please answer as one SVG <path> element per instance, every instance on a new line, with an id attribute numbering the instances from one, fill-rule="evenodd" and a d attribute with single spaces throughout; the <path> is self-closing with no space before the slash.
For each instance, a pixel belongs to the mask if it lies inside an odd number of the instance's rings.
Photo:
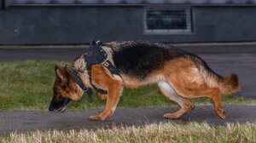
<path id="1" fill-rule="evenodd" d="M 67 66 L 61 69 L 55 66 L 55 84 L 53 86 L 53 99 L 49 105 L 50 112 L 64 112 L 70 100 L 78 101 L 84 92 L 74 82 L 71 72 Z"/>

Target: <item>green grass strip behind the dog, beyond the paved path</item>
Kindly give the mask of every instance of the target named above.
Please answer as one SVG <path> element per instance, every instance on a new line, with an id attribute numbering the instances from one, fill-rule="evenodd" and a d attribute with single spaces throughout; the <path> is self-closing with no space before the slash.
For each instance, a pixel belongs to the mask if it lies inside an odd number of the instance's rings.
<path id="1" fill-rule="evenodd" d="M 62 61 L 20 61 L 0 63 L 0 110 L 47 110 L 52 99 L 55 81 L 54 66 L 71 65 Z M 195 105 L 212 104 L 208 98 L 192 100 Z M 232 95 L 222 95 L 224 104 L 255 103 Z M 68 109 L 103 108 L 106 100 L 86 94 L 79 102 L 71 102 Z M 155 84 L 140 89 L 125 89 L 118 107 L 176 106 L 160 93 Z"/>

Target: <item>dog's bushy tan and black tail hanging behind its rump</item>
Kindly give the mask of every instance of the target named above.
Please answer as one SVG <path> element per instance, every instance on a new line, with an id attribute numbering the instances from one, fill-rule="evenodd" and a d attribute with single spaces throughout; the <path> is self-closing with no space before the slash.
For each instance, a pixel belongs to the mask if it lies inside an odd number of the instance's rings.
<path id="1" fill-rule="evenodd" d="M 229 77 L 222 77 L 216 72 L 213 72 L 199 56 L 189 54 L 187 57 L 195 63 L 205 83 L 209 87 L 218 87 L 221 94 L 233 94 L 240 90 L 240 83 L 235 73 L 231 73 Z"/>

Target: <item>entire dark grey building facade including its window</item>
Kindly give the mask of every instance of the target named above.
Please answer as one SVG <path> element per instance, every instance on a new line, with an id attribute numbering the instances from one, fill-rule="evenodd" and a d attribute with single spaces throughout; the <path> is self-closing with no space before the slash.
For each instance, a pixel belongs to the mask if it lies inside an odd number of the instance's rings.
<path id="1" fill-rule="evenodd" d="M 0 2 L 0 44 L 256 41 L 256 0 Z"/>

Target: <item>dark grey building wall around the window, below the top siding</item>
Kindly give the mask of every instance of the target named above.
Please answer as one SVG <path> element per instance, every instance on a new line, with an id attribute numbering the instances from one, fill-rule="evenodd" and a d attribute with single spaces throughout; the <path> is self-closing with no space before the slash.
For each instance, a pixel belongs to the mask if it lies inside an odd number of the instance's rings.
<path id="1" fill-rule="evenodd" d="M 0 44 L 69 44 L 114 40 L 256 41 L 255 6 L 191 6 L 186 35 L 144 35 L 143 6 L 24 7 L 0 10 Z"/>

